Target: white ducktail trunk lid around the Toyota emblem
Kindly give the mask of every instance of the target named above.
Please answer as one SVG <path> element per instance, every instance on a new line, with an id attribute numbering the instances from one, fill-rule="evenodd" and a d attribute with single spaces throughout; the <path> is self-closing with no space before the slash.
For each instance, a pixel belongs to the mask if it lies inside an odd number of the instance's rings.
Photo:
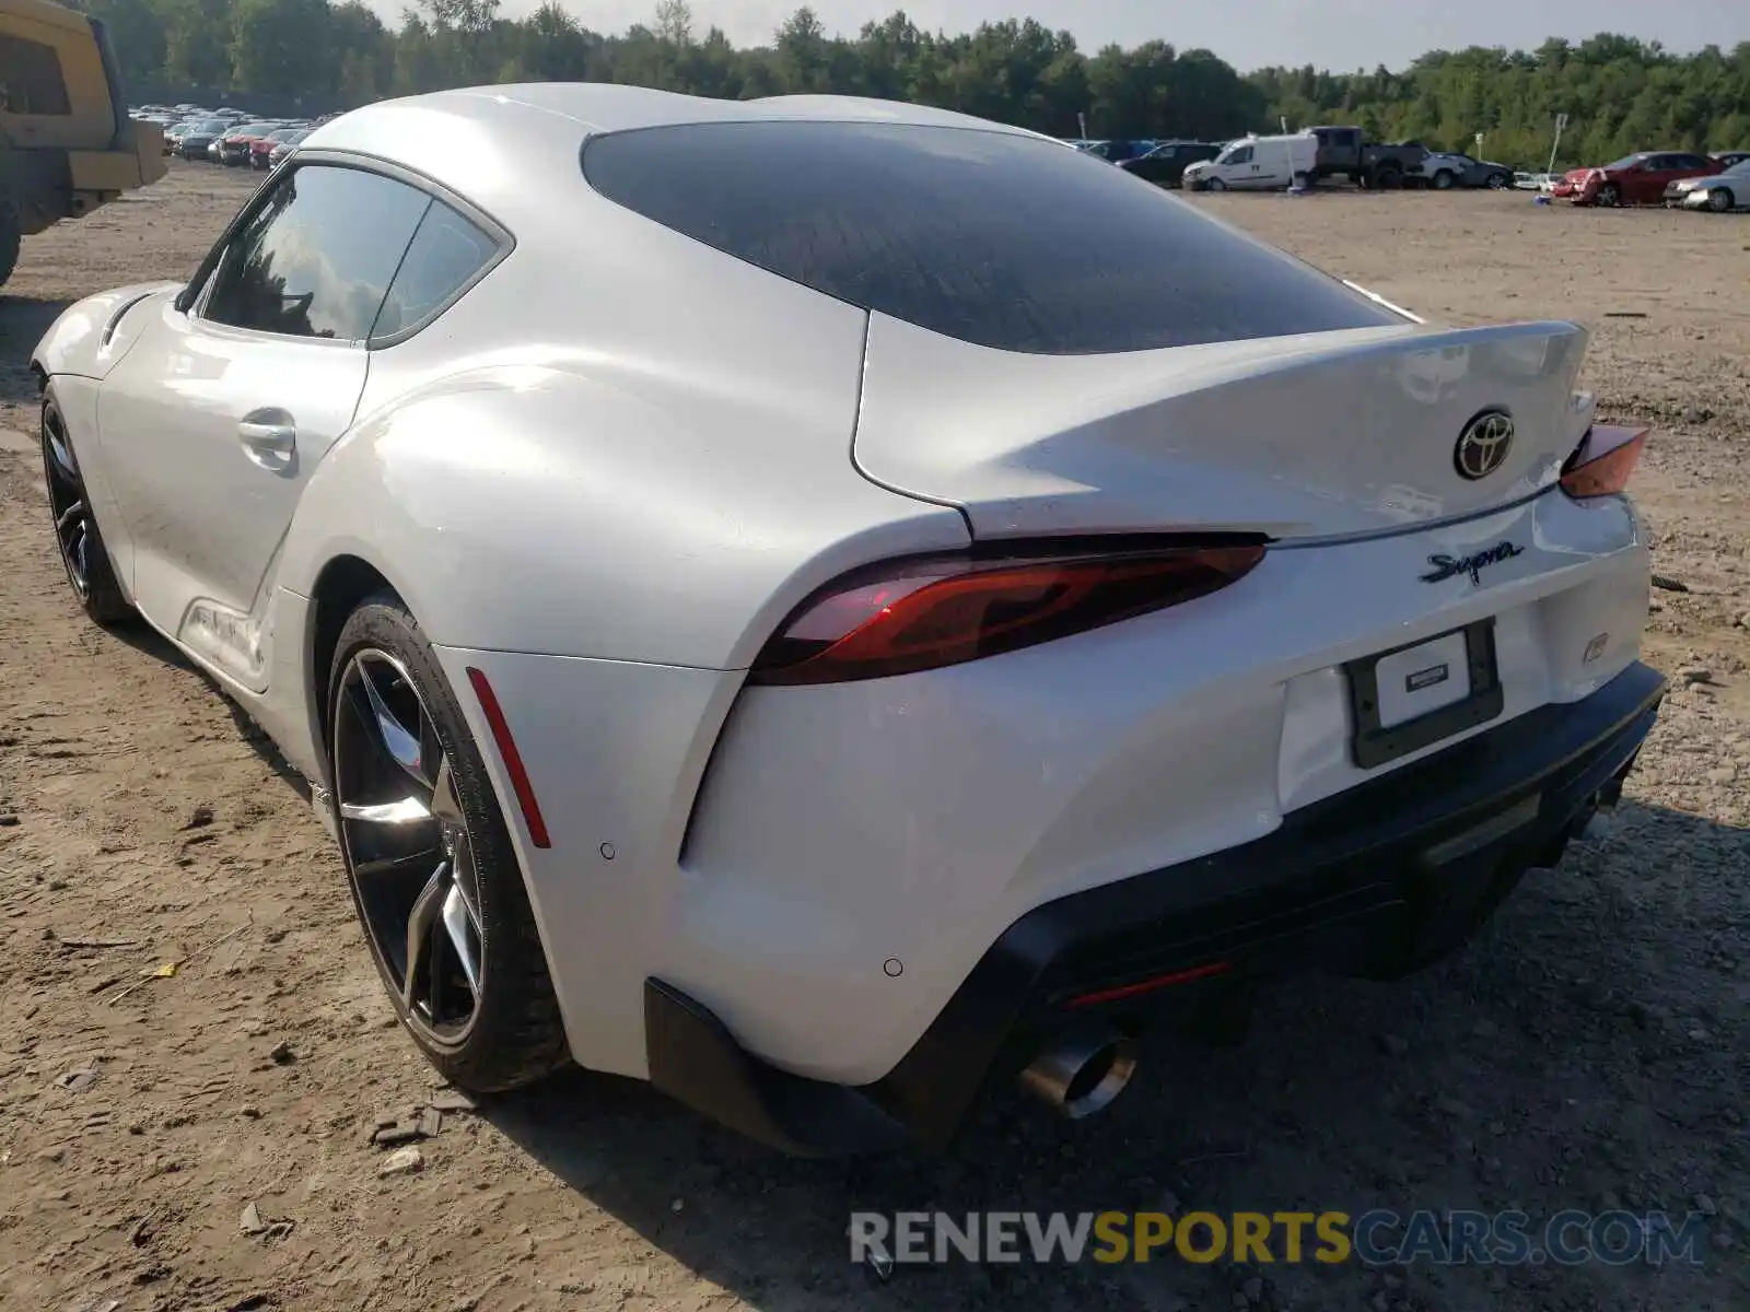
<path id="1" fill-rule="evenodd" d="M 980 539 L 1407 532 L 1559 478 L 1591 422 L 1573 392 L 1586 341 L 1559 322 L 1405 325 L 1024 355 L 877 313 L 852 450 L 866 478 L 961 507 Z M 1466 478 L 1460 439 L 1486 411 L 1512 436 Z"/>

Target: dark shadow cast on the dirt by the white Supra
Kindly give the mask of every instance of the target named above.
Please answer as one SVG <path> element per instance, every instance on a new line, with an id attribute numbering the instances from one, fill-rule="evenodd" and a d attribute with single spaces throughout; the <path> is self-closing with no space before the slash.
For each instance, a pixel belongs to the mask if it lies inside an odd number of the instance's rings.
<path id="1" fill-rule="evenodd" d="M 584 1072 L 485 1113 L 570 1188 L 760 1309 L 877 1296 L 929 1309 L 1354 1309 L 1381 1296 L 1374 1307 L 1442 1312 L 1726 1307 L 1745 1289 L 1726 1244 L 1750 1219 L 1731 1207 L 1708 1219 L 1703 1265 L 1662 1270 L 1239 1267 L 1160 1251 L 1148 1265 L 956 1256 L 882 1281 L 849 1260 L 852 1211 L 1521 1209 L 1536 1235 L 1564 1209 L 1680 1221 L 1698 1195 L 1750 1204 L 1745 1153 L 1717 1151 L 1743 1142 L 1750 988 L 1718 931 L 1746 915 L 1750 834 L 1633 801 L 1600 827 L 1558 869 L 1531 871 L 1465 952 L 1412 980 L 1278 985 L 1239 1048 L 1150 1039 L 1132 1090 L 1088 1121 L 992 1090 L 945 1156 L 794 1162 L 642 1085 Z M 1722 1169 L 1732 1179 L 1710 1174 Z"/>

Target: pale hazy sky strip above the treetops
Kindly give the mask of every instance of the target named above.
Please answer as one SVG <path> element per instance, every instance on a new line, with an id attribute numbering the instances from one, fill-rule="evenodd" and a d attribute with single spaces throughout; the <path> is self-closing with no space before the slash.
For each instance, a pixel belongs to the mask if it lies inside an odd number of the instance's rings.
<path id="1" fill-rule="evenodd" d="M 625 31 L 648 23 L 656 0 L 560 0 L 584 26 Z M 802 0 L 690 0 L 695 28 L 723 28 L 737 45 L 765 45 Z M 371 0 L 397 21 L 401 0 Z M 522 17 L 539 0 L 502 0 L 504 17 Z M 980 23 L 1036 17 L 1068 28 L 1094 52 L 1108 42 L 1166 40 L 1208 47 L 1241 72 L 1265 65 L 1348 72 L 1402 68 L 1430 49 L 1507 45 L 1531 49 L 1547 37 L 1577 40 L 1619 31 L 1661 40 L 1675 52 L 1750 40 L 1750 0 L 814 0 L 828 31 L 856 35 L 870 19 L 905 9 L 926 30 L 970 31 Z"/>

